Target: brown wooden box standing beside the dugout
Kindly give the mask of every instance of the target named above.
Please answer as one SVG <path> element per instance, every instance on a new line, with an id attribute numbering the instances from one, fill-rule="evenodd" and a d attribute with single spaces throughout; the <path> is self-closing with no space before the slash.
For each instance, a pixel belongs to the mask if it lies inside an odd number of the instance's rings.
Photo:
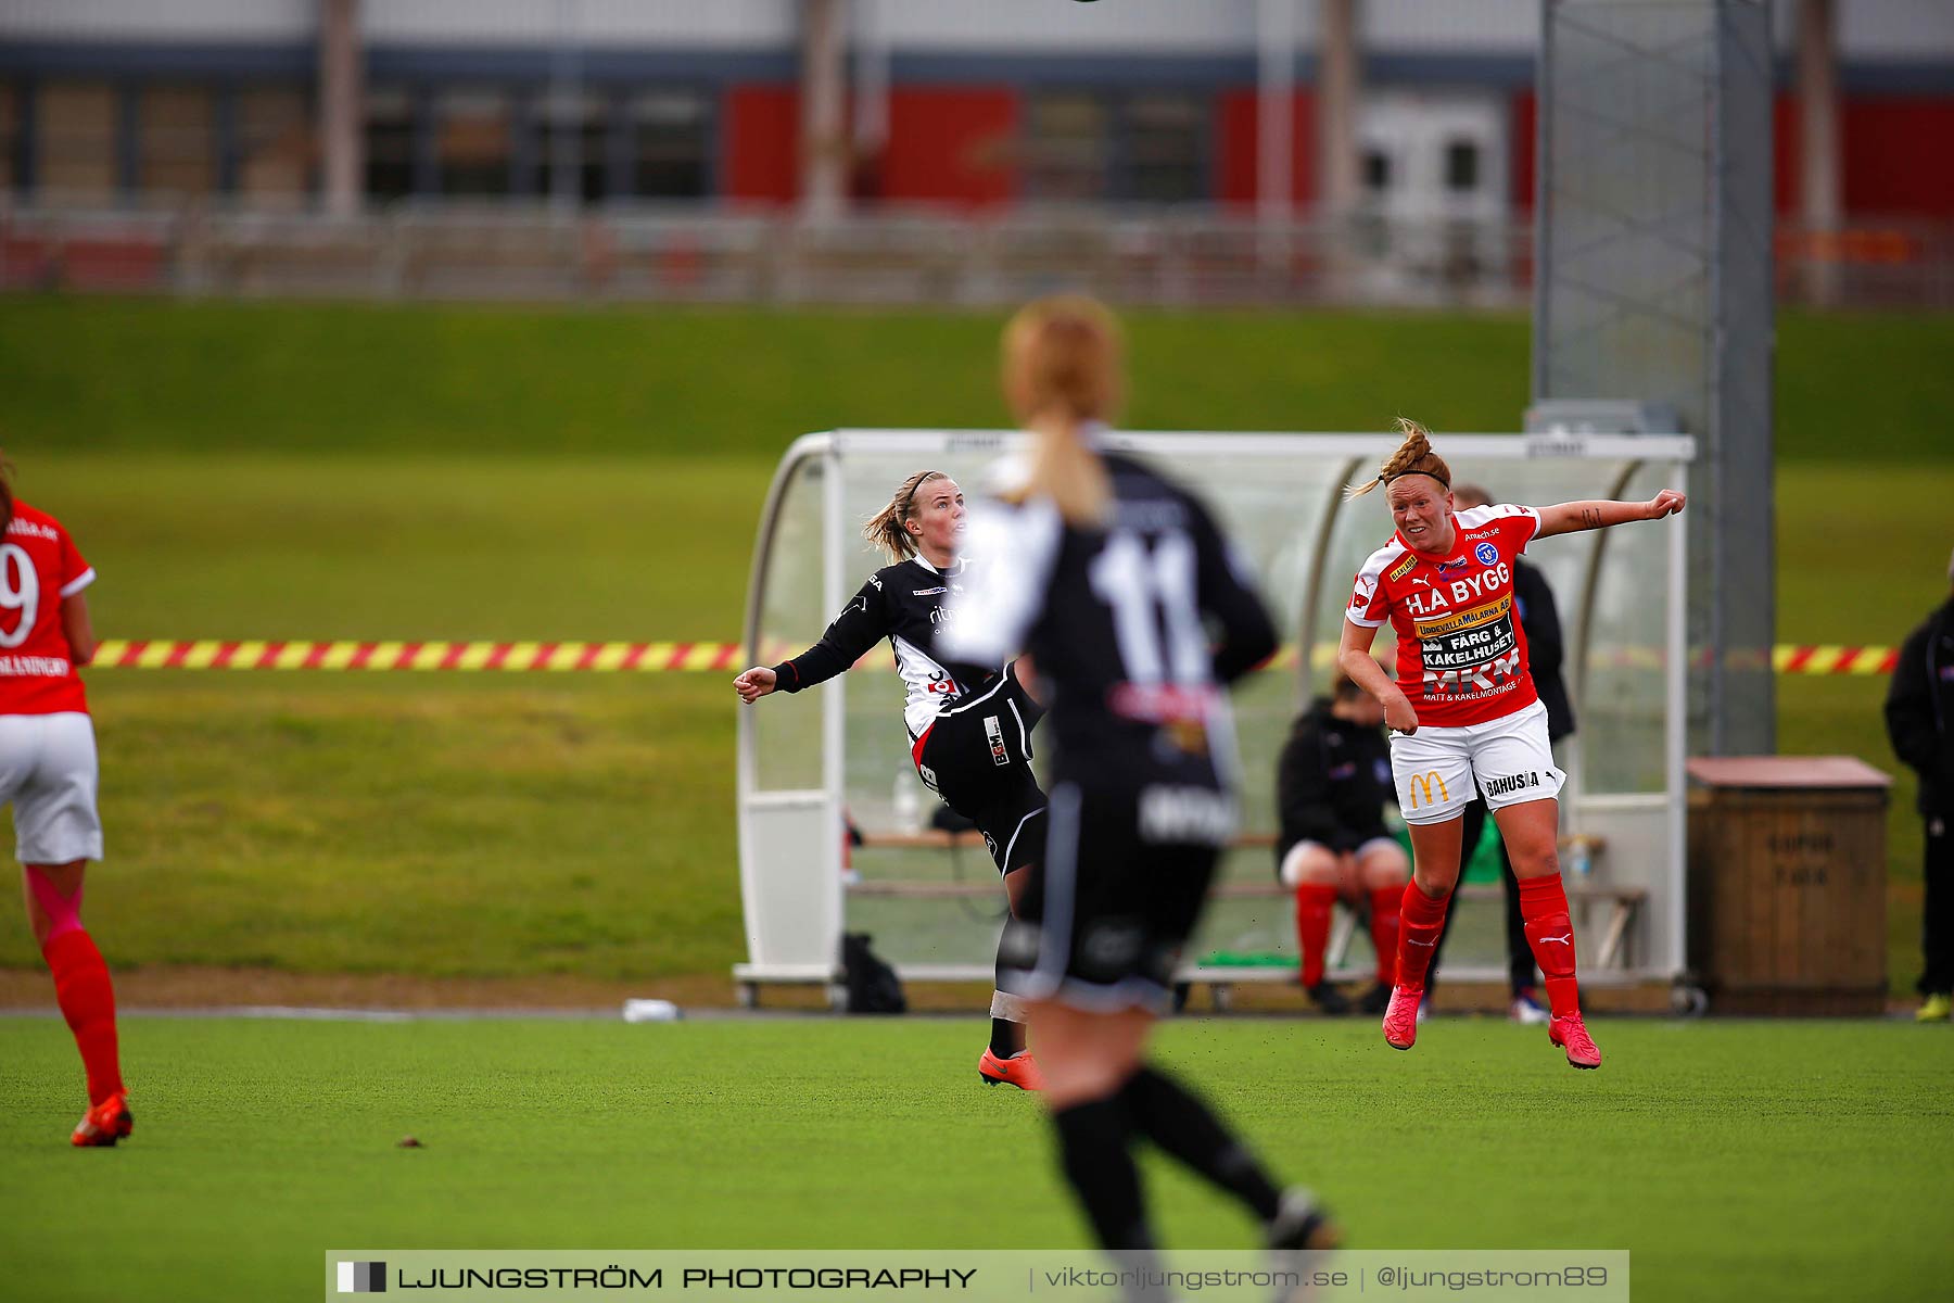
<path id="1" fill-rule="evenodd" d="M 1886 801 L 1850 756 L 1690 760 L 1690 967 L 1718 1014 L 1886 1008 Z"/>

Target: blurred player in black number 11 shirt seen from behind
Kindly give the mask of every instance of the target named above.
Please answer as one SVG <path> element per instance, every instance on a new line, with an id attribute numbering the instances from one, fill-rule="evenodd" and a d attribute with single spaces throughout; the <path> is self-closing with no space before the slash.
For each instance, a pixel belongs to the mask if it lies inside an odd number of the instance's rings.
<path id="1" fill-rule="evenodd" d="M 1122 1266 L 1155 1264 L 1141 1137 L 1241 1199 L 1270 1246 L 1325 1248 L 1335 1231 L 1309 1194 L 1278 1192 L 1145 1061 L 1235 822 L 1223 686 L 1274 652 L 1276 631 L 1208 510 L 1100 445 L 1120 387 L 1098 303 L 1045 299 L 1012 318 L 1004 395 L 1034 451 L 977 518 L 985 570 L 938 639 L 985 664 L 1022 649 L 1049 690 L 1049 844 L 1034 901 L 1004 928 L 1000 981 L 1030 1000 L 1065 1176 Z"/>

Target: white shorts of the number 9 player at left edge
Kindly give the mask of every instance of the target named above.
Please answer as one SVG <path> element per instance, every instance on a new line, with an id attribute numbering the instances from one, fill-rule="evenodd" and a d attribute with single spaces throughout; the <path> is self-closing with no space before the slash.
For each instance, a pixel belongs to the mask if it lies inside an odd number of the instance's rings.
<path id="1" fill-rule="evenodd" d="M 0 715 L 0 801 L 14 803 L 21 863 L 100 860 L 94 721 L 80 711 Z"/>

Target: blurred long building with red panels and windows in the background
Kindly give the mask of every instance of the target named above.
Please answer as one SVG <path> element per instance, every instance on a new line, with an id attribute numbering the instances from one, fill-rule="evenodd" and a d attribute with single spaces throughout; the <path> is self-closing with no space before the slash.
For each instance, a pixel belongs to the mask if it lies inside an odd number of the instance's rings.
<path id="1" fill-rule="evenodd" d="M 0 186 L 1309 211 L 1344 166 L 1354 205 L 1497 217 L 1532 203 L 1538 31 L 1536 0 L 8 0 Z M 1774 31 L 1780 209 L 1815 166 L 1854 219 L 1954 217 L 1954 8 L 1778 0 Z M 1819 154 L 1800 66 L 1835 78 Z"/>

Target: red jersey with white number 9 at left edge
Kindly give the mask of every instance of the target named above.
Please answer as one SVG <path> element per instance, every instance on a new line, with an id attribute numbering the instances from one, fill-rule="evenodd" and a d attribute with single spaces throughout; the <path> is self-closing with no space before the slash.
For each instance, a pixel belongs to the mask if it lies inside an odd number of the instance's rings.
<path id="1" fill-rule="evenodd" d="M 94 567 L 61 522 L 14 502 L 0 543 L 0 715 L 88 711 L 61 602 L 92 582 Z"/>

